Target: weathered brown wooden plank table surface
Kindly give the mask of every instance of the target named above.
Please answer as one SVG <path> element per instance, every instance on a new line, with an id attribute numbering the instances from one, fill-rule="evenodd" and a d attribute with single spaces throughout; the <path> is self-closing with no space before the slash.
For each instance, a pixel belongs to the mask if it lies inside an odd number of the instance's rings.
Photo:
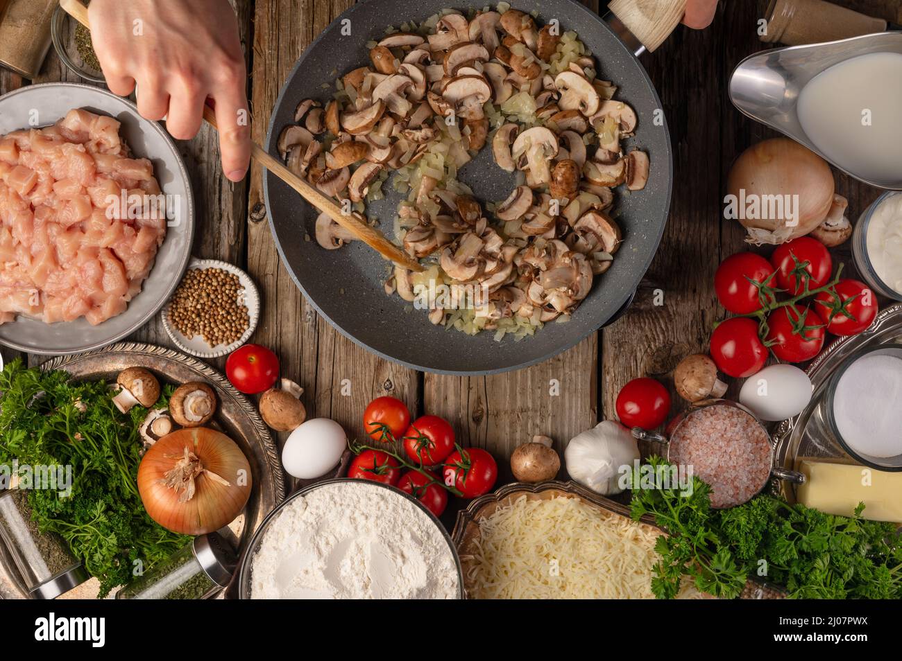
<path id="1" fill-rule="evenodd" d="M 352 0 L 233 3 L 251 72 L 253 139 L 262 143 L 273 104 L 300 53 Z M 585 4 L 595 10 L 599 5 Z M 658 51 L 640 58 L 672 131 L 675 186 L 667 231 L 629 312 L 557 358 L 503 375 L 437 376 L 400 367 L 346 340 L 306 303 L 281 265 L 266 222 L 261 168 L 253 165 L 241 184 L 228 182 L 219 168 L 216 132 L 207 126 L 194 140 L 179 142 L 197 200 L 193 254 L 244 267 L 256 281 L 262 316 L 252 341 L 274 349 L 284 376 L 306 389 L 309 417 L 332 418 L 359 436 L 366 403 L 391 394 L 411 412 L 446 417 L 459 441 L 490 450 L 499 461 L 500 481 L 510 481 L 506 459 L 513 448 L 546 434 L 562 450 L 578 432 L 612 418 L 618 391 L 637 376 L 656 376 L 671 387 L 669 372 L 686 354 L 704 351 L 713 322 L 723 318 L 713 293 L 714 270 L 744 246 L 739 223 L 723 220 L 726 176 L 733 158 L 770 134 L 732 107 L 726 88 L 732 68 L 764 48 L 756 30 L 767 4 L 724 0 L 710 28 L 695 32 L 680 26 Z M 897 0 L 842 4 L 897 18 Z M 83 82 L 51 49 L 32 82 L 58 80 Z M 29 82 L 0 70 L 0 93 Z M 837 192 L 849 199 L 851 219 L 879 195 L 842 174 L 836 181 Z M 159 315 L 132 339 L 170 345 Z M 16 354 L 4 349 L 3 355 L 9 360 Z M 27 357 L 32 364 L 44 358 Z M 214 362 L 222 367 L 223 361 Z M 676 412 L 676 395 L 674 401 Z"/>

